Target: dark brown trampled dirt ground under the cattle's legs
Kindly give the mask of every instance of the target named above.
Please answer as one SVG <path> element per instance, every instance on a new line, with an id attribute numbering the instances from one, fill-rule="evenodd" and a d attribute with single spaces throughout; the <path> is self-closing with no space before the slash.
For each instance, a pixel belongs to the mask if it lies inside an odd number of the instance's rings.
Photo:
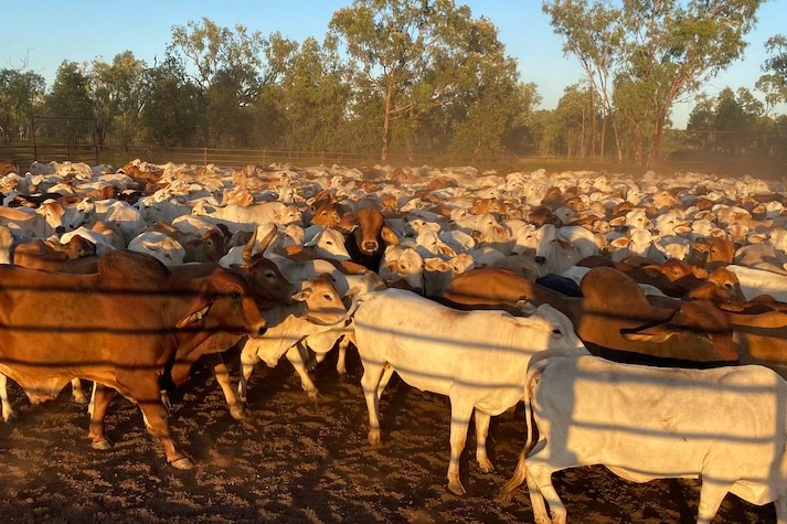
<path id="1" fill-rule="evenodd" d="M 87 445 L 87 415 L 64 392 L 31 406 L 11 387 L 19 419 L 0 425 L 0 522 L 532 522 L 520 489 L 494 501 L 524 441 L 521 409 L 492 423 L 498 470 L 482 473 L 472 431 L 462 463 L 468 491 L 445 488 L 449 406 L 444 397 L 392 381 L 381 400 L 384 445 L 366 443 L 357 354 L 339 379 L 334 361 L 315 372 L 322 396 L 309 400 L 288 362 L 252 377 L 249 417 L 233 420 L 211 373 L 198 366 L 173 398 L 173 432 L 198 467 L 179 471 L 145 431 L 139 411 L 118 398 L 109 451 Z M 604 468 L 555 475 L 574 523 L 694 522 L 699 483 L 623 481 Z M 773 523 L 773 504 L 727 495 L 714 524 Z"/>

